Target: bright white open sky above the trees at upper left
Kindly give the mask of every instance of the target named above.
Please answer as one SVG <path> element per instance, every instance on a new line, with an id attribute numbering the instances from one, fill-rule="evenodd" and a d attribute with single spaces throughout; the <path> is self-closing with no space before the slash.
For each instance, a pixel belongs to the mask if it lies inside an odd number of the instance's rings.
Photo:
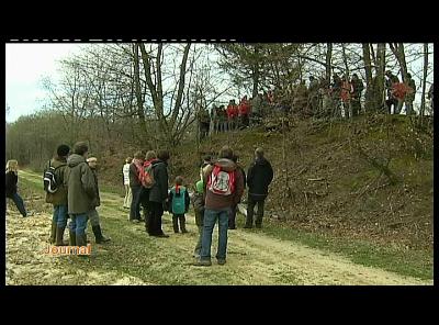
<path id="1" fill-rule="evenodd" d="M 70 43 L 5 44 L 5 105 L 10 107 L 7 122 L 42 108 L 45 96 L 42 78 L 56 78 L 57 60 L 76 53 L 80 46 Z"/>

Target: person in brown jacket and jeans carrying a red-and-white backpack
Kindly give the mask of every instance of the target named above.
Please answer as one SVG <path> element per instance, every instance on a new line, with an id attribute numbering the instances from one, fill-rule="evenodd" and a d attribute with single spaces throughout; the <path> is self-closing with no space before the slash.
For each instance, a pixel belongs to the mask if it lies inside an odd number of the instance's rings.
<path id="1" fill-rule="evenodd" d="M 232 160 L 233 150 L 224 146 L 219 150 L 218 160 L 210 166 L 203 175 L 205 210 L 200 259 L 195 266 L 211 266 L 212 233 L 218 220 L 218 246 L 216 259 L 218 265 L 226 262 L 228 216 L 232 206 L 243 195 L 244 179 Z"/>

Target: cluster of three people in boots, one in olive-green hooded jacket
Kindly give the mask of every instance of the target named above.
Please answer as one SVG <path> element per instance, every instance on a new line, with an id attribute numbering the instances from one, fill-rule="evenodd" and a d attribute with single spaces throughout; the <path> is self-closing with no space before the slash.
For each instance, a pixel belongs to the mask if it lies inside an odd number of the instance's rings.
<path id="1" fill-rule="evenodd" d="M 46 192 L 46 202 L 54 206 L 49 242 L 56 246 L 65 246 L 64 233 L 69 222 L 70 246 L 86 246 L 87 223 L 90 220 L 97 244 L 110 242 L 102 234 L 99 213 L 100 206 L 98 183 L 98 158 L 89 156 L 88 145 L 78 142 L 72 153 L 67 145 L 60 145 L 57 154 L 44 168 L 44 173 L 53 167 L 55 192 Z"/>

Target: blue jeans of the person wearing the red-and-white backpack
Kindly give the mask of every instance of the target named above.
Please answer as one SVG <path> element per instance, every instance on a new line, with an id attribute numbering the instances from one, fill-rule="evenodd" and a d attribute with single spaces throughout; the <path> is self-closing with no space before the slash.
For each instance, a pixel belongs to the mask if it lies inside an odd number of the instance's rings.
<path id="1" fill-rule="evenodd" d="M 215 226 L 216 220 L 218 220 L 218 250 L 216 253 L 217 259 L 226 259 L 227 251 L 227 229 L 228 229 L 228 215 L 230 214 L 230 208 L 221 210 L 204 210 L 204 225 L 203 225 L 203 237 L 201 239 L 201 260 L 211 259 L 211 245 L 212 245 L 212 233 Z"/>

